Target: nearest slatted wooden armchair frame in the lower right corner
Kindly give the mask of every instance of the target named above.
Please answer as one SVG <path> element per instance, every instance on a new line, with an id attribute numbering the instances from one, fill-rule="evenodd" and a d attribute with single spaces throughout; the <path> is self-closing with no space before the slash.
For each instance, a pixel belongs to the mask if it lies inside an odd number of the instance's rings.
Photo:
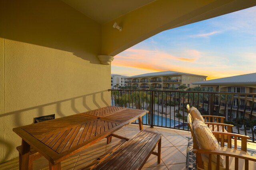
<path id="1" fill-rule="evenodd" d="M 250 137 L 245 135 L 239 135 L 234 133 L 225 132 L 212 132 L 220 143 L 221 150 L 204 150 L 199 149 L 199 143 L 197 142 L 191 115 L 188 115 L 188 127 L 190 128 L 193 138 L 194 153 L 196 153 L 196 167 L 199 170 L 211 170 L 211 169 L 234 169 L 234 170 L 249 170 L 256 169 L 256 157 L 247 154 L 247 139 Z M 219 138 L 219 135 L 222 138 Z M 224 135 L 228 136 L 227 147 L 224 147 Z M 232 149 L 232 137 L 234 137 L 234 149 Z M 237 138 L 241 138 L 241 150 L 237 150 Z M 206 156 L 205 156 L 206 155 Z M 217 155 L 217 162 L 212 162 L 212 156 Z M 220 166 L 220 155 L 224 156 L 224 162 L 226 167 Z"/>

